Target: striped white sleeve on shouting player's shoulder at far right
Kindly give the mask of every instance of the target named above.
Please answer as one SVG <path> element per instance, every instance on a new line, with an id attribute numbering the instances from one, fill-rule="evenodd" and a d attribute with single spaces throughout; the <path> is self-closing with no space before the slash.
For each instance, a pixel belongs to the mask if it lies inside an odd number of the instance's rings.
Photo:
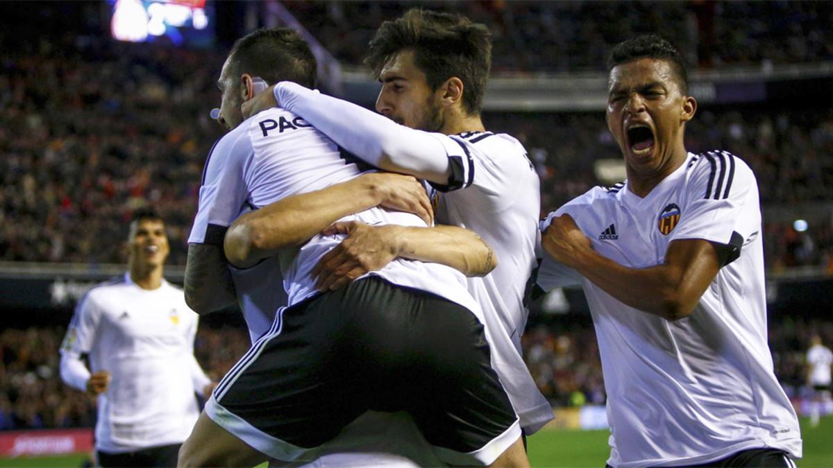
<path id="1" fill-rule="evenodd" d="M 761 231 L 761 207 L 755 175 L 728 152 L 701 154 L 684 192 L 680 220 L 670 241 L 703 239 L 724 254 L 724 265 Z"/>

